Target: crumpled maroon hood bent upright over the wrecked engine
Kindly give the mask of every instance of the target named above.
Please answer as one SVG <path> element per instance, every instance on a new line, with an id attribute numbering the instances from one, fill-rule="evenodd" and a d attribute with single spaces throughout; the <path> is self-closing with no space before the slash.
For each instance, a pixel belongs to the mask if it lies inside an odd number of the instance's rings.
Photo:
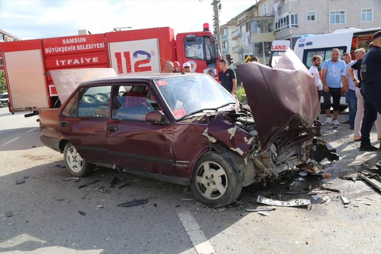
<path id="1" fill-rule="evenodd" d="M 307 127 L 319 116 L 314 78 L 291 49 L 274 69 L 253 62 L 237 70 L 263 150 L 283 131 Z"/>

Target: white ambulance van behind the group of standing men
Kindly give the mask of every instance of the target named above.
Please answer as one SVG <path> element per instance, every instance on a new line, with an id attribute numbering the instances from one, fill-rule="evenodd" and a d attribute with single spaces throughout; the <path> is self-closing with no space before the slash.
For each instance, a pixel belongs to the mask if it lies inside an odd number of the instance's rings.
<path id="1" fill-rule="evenodd" d="M 295 43 L 294 53 L 301 59 L 307 69 L 312 66 L 312 56 L 321 56 L 323 63 L 323 61 L 331 58 L 333 48 L 338 48 L 341 56 L 343 56 L 343 53 L 350 53 L 352 59 L 354 59 L 355 50 L 358 48 L 368 50 L 369 43 L 373 41 L 373 34 L 380 30 L 381 27 L 371 29 L 346 28 L 336 30 L 332 34 L 299 38 Z M 320 67 L 318 70 L 320 72 Z M 320 94 L 322 94 L 322 89 L 323 87 L 320 87 Z M 323 103 L 323 96 L 320 102 Z M 346 99 L 343 96 L 340 100 L 340 110 L 345 110 L 347 107 Z"/>

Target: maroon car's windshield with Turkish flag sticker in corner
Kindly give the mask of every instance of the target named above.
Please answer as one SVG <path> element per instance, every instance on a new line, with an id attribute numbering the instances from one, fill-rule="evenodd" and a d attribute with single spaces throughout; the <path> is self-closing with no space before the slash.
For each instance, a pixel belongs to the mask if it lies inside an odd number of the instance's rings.
<path id="1" fill-rule="evenodd" d="M 183 75 L 155 80 L 176 119 L 217 111 L 235 99 L 210 75 Z"/>

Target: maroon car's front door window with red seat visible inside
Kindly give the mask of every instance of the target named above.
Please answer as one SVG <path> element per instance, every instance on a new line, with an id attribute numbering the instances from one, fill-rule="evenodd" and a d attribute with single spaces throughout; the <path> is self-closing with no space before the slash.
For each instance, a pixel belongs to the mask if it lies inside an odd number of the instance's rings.
<path id="1" fill-rule="evenodd" d="M 121 87 L 125 88 L 126 92 L 120 92 Z M 120 86 L 115 88 L 119 92 L 114 94 L 112 118 L 145 121 L 146 114 L 155 111 L 154 106 L 158 108 L 154 97 L 144 84 L 128 87 L 130 89 L 127 87 Z"/>

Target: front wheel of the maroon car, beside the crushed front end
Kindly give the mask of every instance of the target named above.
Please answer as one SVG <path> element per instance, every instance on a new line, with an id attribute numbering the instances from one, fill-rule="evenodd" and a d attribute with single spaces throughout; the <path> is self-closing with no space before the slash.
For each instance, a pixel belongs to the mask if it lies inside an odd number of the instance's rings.
<path id="1" fill-rule="evenodd" d="M 209 151 L 195 165 L 191 190 L 200 203 L 208 207 L 224 207 L 240 195 L 242 178 L 221 154 Z"/>

